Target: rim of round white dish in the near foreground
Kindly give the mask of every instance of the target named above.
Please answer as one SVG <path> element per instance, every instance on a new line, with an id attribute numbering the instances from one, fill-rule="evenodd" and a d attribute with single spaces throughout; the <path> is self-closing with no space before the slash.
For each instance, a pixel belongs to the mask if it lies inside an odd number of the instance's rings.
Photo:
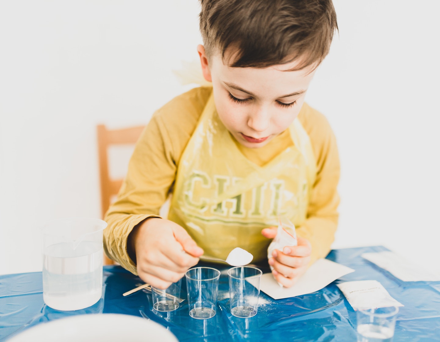
<path id="1" fill-rule="evenodd" d="M 178 342 L 165 327 L 145 318 L 116 313 L 77 315 L 41 323 L 8 342 Z"/>

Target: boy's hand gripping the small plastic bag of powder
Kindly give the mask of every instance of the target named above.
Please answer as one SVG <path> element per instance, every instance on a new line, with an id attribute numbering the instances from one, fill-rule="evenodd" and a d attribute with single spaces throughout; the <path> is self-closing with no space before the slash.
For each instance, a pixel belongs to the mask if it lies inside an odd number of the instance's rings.
<path id="1" fill-rule="evenodd" d="M 261 231 L 265 237 L 273 239 L 276 235 L 276 228 L 265 228 Z M 272 258 L 268 262 L 274 269 L 272 274 L 284 287 L 291 287 L 307 270 L 312 254 L 312 245 L 306 239 L 297 237 L 297 246 L 286 246 L 282 251 L 272 252 Z"/>

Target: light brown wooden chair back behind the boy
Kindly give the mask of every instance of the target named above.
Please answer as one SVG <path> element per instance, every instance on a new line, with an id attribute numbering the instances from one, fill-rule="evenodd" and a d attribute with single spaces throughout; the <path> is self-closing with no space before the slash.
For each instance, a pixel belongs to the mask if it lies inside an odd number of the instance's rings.
<path id="1" fill-rule="evenodd" d="M 112 145 L 134 145 L 145 126 L 128 127 L 122 129 L 107 129 L 105 125 L 98 125 L 98 155 L 99 178 L 101 183 L 101 214 L 102 217 L 110 207 L 112 197 L 117 195 L 123 179 L 111 179 L 108 163 L 108 148 Z M 112 265 L 114 261 L 104 254 L 104 265 Z"/>

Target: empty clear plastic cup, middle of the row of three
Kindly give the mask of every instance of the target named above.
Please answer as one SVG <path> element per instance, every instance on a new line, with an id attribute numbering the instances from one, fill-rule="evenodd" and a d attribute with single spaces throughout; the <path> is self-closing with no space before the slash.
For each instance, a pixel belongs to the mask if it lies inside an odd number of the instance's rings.
<path id="1" fill-rule="evenodd" d="M 195 267 L 188 269 L 185 277 L 190 316 L 198 320 L 214 317 L 220 271 L 211 267 Z"/>

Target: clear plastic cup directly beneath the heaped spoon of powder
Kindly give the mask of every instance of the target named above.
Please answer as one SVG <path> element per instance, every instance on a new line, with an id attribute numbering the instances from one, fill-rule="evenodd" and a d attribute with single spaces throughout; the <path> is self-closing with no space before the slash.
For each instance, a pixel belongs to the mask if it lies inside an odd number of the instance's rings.
<path id="1" fill-rule="evenodd" d="M 229 269 L 227 274 L 231 314 L 240 318 L 255 316 L 258 310 L 260 280 L 263 272 L 252 266 L 238 266 Z"/>

